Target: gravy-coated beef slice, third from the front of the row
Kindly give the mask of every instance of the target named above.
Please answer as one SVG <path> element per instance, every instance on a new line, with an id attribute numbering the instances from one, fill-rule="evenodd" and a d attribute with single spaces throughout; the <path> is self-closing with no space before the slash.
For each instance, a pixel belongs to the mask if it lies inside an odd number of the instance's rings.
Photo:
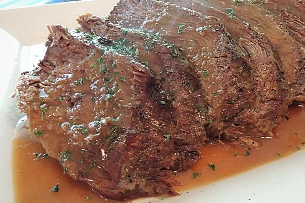
<path id="1" fill-rule="evenodd" d="M 235 115 L 248 106 L 252 93 L 246 62 L 249 58 L 231 40 L 219 19 L 155 1 L 121 1 L 108 18 L 127 28 L 158 33 L 188 53 L 188 58 L 197 65 L 209 104 L 202 111 L 211 128 L 208 134 L 211 140 L 219 137 L 225 125 L 231 125 Z"/>

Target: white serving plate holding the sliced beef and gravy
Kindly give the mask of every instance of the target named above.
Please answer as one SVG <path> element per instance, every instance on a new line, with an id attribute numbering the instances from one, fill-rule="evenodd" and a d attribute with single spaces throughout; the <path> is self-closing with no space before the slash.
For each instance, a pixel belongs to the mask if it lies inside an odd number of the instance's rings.
<path id="1" fill-rule="evenodd" d="M 80 12 L 105 16 L 115 3 L 107 0 L 81 1 L 0 11 L 0 202 L 13 202 L 12 139 L 16 123 L 22 117 L 10 95 L 20 72 L 30 70 L 41 58 L 39 55 L 44 50 L 41 43 L 48 35 L 45 25 L 62 24 L 73 28 L 77 26 L 74 17 Z M 184 191 L 179 197 L 164 200 L 145 198 L 131 202 L 305 202 L 304 159 L 305 151 L 302 150 L 246 173 Z"/>

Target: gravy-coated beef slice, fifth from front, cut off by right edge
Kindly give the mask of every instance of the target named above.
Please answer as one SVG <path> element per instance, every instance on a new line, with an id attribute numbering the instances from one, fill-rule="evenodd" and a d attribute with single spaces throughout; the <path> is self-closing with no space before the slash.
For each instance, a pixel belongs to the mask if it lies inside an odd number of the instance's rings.
<path id="1" fill-rule="evenodd" d="M 294 100 L 305 101 L 305 48 L 302 44 L 305 38 L 298 37 L 304 36 L 302 33 L 305 28 L 304 22 L 300 18 L 290 18 L 289 16 L 292 14 L 287 10 L 281 11 L 278 16 L 275 16 L 277 12 L 274 7 L 271 8 L 271 2 L 278 1 L 274 0 L 253 1 L 253 3 L 250 1 L 232 2 L 230 0 L 199 0 L 199 2 L 224 12 L 230 13 L 232 11 L 233 18 L 237 17 L 261 32 L 270 41 L 273 49 L 282 60 L 281 71 L 292 88 Z M 290 0 L 283 2 L 290 2 L 286 4 L 287 8 L 293 4 Z M 287 15 L 282 18 L 284 12 Z"/>

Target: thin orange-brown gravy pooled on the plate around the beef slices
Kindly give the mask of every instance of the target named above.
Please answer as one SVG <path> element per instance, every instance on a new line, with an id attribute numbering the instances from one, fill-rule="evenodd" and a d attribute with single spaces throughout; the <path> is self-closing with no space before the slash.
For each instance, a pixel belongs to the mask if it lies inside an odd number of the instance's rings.
<path id="1" fill-rule="evenodd" d="M 305 148 L 305 145 L 301 144 L 305 142 L 305 126 L 303 125 L 305 108 L 289 107 L 288 116 L 289 120 L 283 121 L 274 129 L 274 138 L 262 139 L 258 149 L 249 150 L 248 147 L 233 144 L 206 145 L 202 150 L 202 159 L 192 170 L 178 173 L 178 179 L 184 185 L 176 187 L 176 190 L 181 192 L 210 184 Z M 246 151 L 250 152 L 248 156 L 243 155 Z M 86 202 L 87 197 L 91 198 L 88 201 L 91 203 L 112 202 L 102 200 L 85 184 L 72 180 L 68 175 L 63 175 L 63 169 L 57 160 L 46 157 L 33 161 L 35 152 L 44 152 L 39 143 L 28 138 L 18 138 L 13 141 L 13 181 L 16 203 L 78 203 Z M 234 156 L 233 152 L 237 152 L 237 155 Z M 209 164 L 214 164 L 215 170 L 212 170 Z M 200 176 L 193 179 L 193 172 L 198 172 Z M 59 192 L 50 192 L 49 190 L 57 183 L 59 183 Z"/>

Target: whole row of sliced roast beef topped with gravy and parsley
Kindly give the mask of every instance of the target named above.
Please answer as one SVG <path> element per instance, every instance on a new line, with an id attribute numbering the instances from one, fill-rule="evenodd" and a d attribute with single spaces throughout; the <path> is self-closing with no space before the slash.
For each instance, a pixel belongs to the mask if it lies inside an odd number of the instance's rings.
<path id="1" fill-rule="evenodd" d="M 13 98 L 64 173 L 105 198 L 178 195 L 206 142 L 258 147 L 305 101 L 302 1 L 120 0 L 48 26 Z"/>

